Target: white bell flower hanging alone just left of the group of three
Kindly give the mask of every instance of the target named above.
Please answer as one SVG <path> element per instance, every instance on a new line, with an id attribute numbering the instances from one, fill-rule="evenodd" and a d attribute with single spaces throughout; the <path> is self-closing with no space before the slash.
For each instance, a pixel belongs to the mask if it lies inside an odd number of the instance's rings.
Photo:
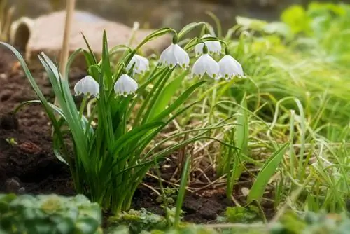
<path id="1" fill-rule="evenodd" d="M 172 43 L 160 55 L 160 62 L 169 67 L 179 65 L 186 69 L 190 64 L 190 57 L 181 46 Z"/>

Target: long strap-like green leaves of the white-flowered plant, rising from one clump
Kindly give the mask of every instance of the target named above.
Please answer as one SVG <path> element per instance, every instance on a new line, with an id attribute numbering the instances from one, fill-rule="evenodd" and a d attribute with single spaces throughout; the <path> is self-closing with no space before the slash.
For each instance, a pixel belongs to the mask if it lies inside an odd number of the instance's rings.
<path id="1" fill-rule="evenodd" d="M 203 23 L 194 23 L 186 26 L 179 33 L 179 37 L 202 25 Z M 116 96 L 113 90 L 118 79 L 123 75 L 126 76 L 128 71 L 125 67 L 137 53 L 137 49 L 144 43 L 169 32 L 175 34 L 174 39 L 179 39 L 173 29 L 158 29 L 141 41 L 134 50 L 123 45 L 109 50 L 107 36 L 104 33 L 100 61 L 97 61 L 84 37 L 88 50 L 77 50 L 65 65 L 68 72 L 76 55 L 80 52 L 85 55 L 88 74 L 99 84 L 98 97 L 93 97 L 89 101 L 94 102 L 90 106 L 92 113 L 90 116 L 84 115 L 89 95 L 85 94 L 78 108 L 71 95 L 68 73 L 59 74 L 57 65 L 49 57 L 41 53 L 39 60 L 48 73 L 59 107 L 45 99 L 18 50 L 7 43 L 2 43 L 18 57 L 38 96 L 38 100 L 21 104 L 15 112 L 25 104 L 43 105 L 54 130 L 52 138 L 55 155 L 69 165 L 76 191 L 87 195 L 90 200 L 102 205 L 104 210 L 110 210 L 114 214 L 130 209 L 134 192 L 153 165 L 187 144 L 207 139 L 204 135 L 209 129 L 196 128 L 187 132 L 176 132 L 157 144 L 153 142 L 156 137 L 160 137 L 160 132 L 165 130 L 169 123 L 196 103 L 189 102 L 189 99 L 206 81 L 197 81 L 179 92 L 178 88 L 182 85 L 186 72 L 178 75 L 176 67 L 161 67 L 160 64 L 155 64 L 151 72 L 146 72 L 144 77 L 140 78 L 143 82 L 137 88 L 136 97 L 129 94 L 123 96 L 125 93 Z M 113 61 L 112 54 L 120 48 L 127 50 L 118 61 Z M 97 125 L 93 126 L 92 121 L 96 119 Z M 210 128 L 221 127 L 213 125 Z M 165 146 L 169 139 L 178 140 L 188 132 L 194 135 L 182 142 Z M 69 146 L 64 140 L 66 136 L 73 142 L 74 158 L 71 157 Z M 214 140 L 221 142 L 219 139 Z"/>

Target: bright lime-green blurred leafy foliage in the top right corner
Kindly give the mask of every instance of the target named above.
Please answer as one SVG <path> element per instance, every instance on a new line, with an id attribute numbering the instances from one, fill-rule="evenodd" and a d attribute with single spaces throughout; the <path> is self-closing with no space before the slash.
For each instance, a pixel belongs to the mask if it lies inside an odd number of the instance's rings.
<path id="1" fill-rule="evenodd" d="M 302 42 L 303 47 L 315 47 L 328 62 L 346 64 L 349 61 L 350 35 L 346 32 L 350 22 L 350 7 L 346 4 L 312 2 L 307 9 L 291 6 L 283 11 L 281 20 L 293 32 L 313 36 L 312 41 Z M 311 43 L 310 43 L 311 42 Z M 320 55 L 321 55 L 320 54 Z"/>

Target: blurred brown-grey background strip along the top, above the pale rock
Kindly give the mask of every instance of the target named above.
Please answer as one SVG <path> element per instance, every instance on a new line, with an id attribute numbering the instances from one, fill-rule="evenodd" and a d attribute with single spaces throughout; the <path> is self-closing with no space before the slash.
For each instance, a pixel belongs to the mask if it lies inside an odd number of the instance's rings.
<path id="1" fill-rule="evenodd" d="M 14 20 L 21 16 L 36 17 L 61 10 L 66 3 L 65 0 L 7 1 L 16 8 Z M 141 27 L 174 29 L 180 29 L 189 22 L 208 21 L 210 18 L 206 12 L 211 11 L 221 20 L 223 29 L 228 29 L 235 23 L 237 15 L 277 20 L 281 11 L 287 6 L 307 5 L 309 2 L 309 0 L 76 0 L 76 8 L 129 26 L 138 21 Z"/>

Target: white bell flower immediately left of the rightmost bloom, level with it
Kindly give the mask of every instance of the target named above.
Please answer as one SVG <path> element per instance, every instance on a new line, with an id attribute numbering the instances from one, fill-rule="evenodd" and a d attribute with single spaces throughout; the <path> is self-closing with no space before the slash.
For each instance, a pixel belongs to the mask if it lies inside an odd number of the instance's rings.
<path id="1" fill-rule="evenodd" d="M 211 78 L 218 79 L 219 70 L 218 63 L 210 55 L 204 54 L 193 64 L 192 77 L 202 77 L 207 73 Z"/>

